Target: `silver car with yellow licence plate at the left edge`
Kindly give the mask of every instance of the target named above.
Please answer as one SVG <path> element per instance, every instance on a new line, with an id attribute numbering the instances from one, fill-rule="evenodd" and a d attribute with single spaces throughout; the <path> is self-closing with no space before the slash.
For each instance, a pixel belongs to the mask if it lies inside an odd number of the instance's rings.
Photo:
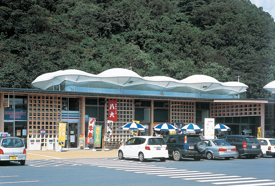
<path id="1" fill-rule="evenodd" d="M 0 137 L 0 162 L 17 161 L 21 165 L 26 162 L 26 149 L 19 137 Z"/>

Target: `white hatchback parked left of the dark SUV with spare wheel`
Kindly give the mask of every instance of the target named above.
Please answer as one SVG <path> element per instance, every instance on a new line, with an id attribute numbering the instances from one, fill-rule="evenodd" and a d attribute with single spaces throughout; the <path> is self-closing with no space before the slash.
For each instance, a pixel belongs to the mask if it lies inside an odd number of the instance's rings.
<path id="1" fill-rule="evenodd" d="M 127 140 L 118 149 L 118 158 L 138 158 L 144 162 L 146 158 L 160 159 L 165 161 L 168 158 L 168 149 L 162 137 L 137 136 Z"/>

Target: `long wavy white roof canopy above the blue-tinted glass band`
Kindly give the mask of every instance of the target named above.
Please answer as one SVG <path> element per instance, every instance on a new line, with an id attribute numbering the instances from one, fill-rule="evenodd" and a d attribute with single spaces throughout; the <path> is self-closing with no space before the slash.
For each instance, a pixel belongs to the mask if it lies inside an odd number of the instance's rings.
<path id="1" fill-rule="evenodd" d="M 97 75 L 74 69 L 59 70 L 40 75 L 32 82 L 32 85 L 40 89 L 48 89 L 53 85 L 61 84 L 65 80 L 75 83 L 105 82 L 122 87 L 133 87 L 142 84 L 147 84 L 147 86 L 157 85 L 163 87 L 163 89 L 189 87 L 204 92 L 223 89 L 227 93 L 230 91 L 241 93 L 248 88 L 247 85 L 240 82 L 222 83 L 213 77 L 205 75 L 193 75 L 182 80 L 176 80 L 166 76 L 141 77 L 131 70 L 122 68 L 108 69 Z"/>

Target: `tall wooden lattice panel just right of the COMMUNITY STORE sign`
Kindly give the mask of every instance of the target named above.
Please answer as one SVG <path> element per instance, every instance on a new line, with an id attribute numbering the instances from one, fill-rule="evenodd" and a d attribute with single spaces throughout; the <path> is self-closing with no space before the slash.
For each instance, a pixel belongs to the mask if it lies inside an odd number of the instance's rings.
<path id="1" fill-rule="evenodd" d="M 41 139 L 41 147 L 46 147 L 47 138 L 57 138 L 58 122 L 61 121 L 60 96 L 28 96 L 28 128 L 32 130 L 29 138 Z M 45 135 L 40 134 L 45 129 Z"/>

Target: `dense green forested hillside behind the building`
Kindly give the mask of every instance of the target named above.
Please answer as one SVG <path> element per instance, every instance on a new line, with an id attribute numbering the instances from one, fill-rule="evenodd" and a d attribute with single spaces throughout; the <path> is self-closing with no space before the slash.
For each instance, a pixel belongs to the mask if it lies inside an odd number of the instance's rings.
<path id="1" fill-rule="evenodd" d="M 0 14 L 0 87 L 132 67 L 175 79 L 240 75 L 247 98 L 271 97 L 275 23 L 249 0 L 1 0 Z"/>

